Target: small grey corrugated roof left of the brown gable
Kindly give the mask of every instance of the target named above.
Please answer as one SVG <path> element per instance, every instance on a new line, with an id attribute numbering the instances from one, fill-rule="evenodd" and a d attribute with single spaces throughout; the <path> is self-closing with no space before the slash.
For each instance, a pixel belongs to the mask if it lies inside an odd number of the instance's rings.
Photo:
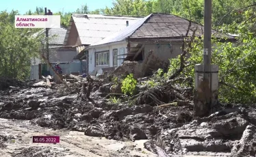
<path id="1" fill-rule="evenodd" d="M 34 35 L 41 35 L 42 33 L 45 34 L 46 29 L 42 29 L 38 33 L 35 33 Z M 48 37 L 49 39 L 49 44 L 58 44 L 58 45 L 63 45 L 65 36 L 67 33 L 67 29 L 64 27 L 60 28 L 51 28 L 48 30 Z"/>

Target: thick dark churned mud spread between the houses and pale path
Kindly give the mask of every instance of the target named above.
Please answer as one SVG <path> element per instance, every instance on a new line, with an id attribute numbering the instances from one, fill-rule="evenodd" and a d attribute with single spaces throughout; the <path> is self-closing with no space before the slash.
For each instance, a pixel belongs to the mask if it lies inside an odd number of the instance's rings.
<path id="1" fill-rule="evenodd" d="M 148 139 L 145 149 L 158 156 L 255 156 L 254 106 L 226 105 L 225 111 L 197 118 L 189 105 L 109 104 L 108 84 L 93 87 L 90 101 L 81 89 L 80 83 L 68 90 L 63 85 L 8 88 L 0 91 L 0 117 L 26 119 L 54 130 L 68 128 L 90 137 Z"/>

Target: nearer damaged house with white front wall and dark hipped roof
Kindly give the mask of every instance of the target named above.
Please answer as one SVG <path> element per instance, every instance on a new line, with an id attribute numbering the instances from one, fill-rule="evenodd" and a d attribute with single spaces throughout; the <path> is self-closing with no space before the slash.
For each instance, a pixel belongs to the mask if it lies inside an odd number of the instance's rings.
<path id="1" fill-rule="evenodd" d="M 145 76 L 148 72 L 167 67 L 170 58 L 182 53 L 189 23 L 189 20 L 172 14 L 150 14 L 87 46 L 77 57 L 87 59 L 89 74 L 115 70 L 132 72 L 136 77 Z M 203 26 L 192 22 L 191 28 L 196 27 L 199 31 L 195 35 L 203 35 Z M 212 33 L 216 31 L 212 30 Z M 193 31 L 189 31 L 188 36 L 192 34 Z M 225 37 L 228 41 L 235 40 L 231 35 Z"/>

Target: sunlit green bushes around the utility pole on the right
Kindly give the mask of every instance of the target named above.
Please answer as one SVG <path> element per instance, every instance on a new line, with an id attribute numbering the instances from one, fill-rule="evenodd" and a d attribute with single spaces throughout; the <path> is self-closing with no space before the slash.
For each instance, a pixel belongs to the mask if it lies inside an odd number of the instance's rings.
<path id="1" fill-rule="evenodd" d="M 244 14 L 250 19 L 252 10 Z M 256 38 L 255 18 L 246 23 L 233 23 L 222 27 L 223 33 L 239 34 L 238 42 L 212 41 L 212 64 L 219 66 L 219 100 L 221 102 L 255 103 L 256 102 Z M 182 71 L 184 78 L 194 77 L 195 64 L 203 63 L 203 40 L 196 38 L 192 44 L 190 57 L 186 57 L 186 68 Z M 170 59 L 169 74 L 180 66 L 179 57 Z"/>

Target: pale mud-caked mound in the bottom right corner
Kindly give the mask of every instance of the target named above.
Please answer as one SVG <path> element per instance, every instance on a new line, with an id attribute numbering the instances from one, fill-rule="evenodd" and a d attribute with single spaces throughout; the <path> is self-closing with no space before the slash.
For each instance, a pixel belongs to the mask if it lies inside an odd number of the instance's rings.
<path id="1" fill-rule="evenodd" d="M 242 134 L 242 138 L 231 149 L 232 156 L 256 156 L 256 132 L 255 126 L 248 125 Z"/>

